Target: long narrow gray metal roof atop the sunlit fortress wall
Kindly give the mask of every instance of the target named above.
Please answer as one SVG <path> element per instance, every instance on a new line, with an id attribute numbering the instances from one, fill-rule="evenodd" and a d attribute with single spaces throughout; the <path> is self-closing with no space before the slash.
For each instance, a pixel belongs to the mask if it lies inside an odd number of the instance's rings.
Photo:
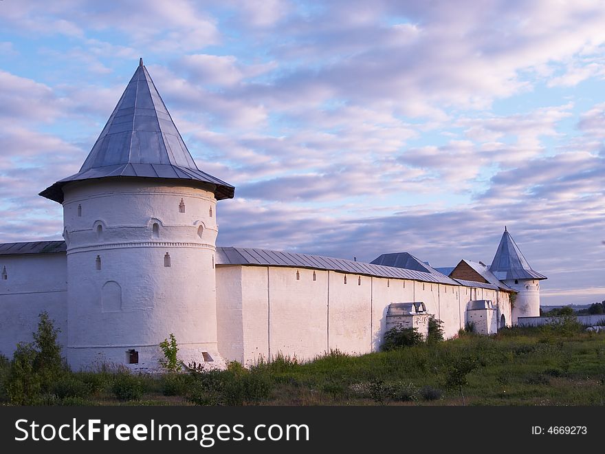
<path id="1" fill-rule="evenodd" d="M 375 265 L 362 261 L 256 248 L 217 248 L 217 265 L 316 268 L 320 270 L 365 274 L 366 276 L 459 285 L 454 279 L 444 276 L 440 272 L 430 268 L 430 266 L 426 267 L 427 271 L 417 271 L 406 268 L 395 268 L 393 266 Z"/>

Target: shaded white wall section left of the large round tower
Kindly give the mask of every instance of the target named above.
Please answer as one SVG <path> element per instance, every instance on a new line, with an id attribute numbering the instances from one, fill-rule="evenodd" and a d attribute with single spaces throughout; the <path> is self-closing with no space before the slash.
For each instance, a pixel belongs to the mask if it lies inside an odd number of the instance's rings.
<path id="1" fill-rule="evenodd" d="M 65 252 L 2 255 L 0 271 L 0 354 L 12 356 L 19 342 L 33 340 L 39 314 L 48 312 L 61 329 L 58 343 L 67 340 L 67 259 Z M 65 352 L 64 352 L 65 353 Z"/>

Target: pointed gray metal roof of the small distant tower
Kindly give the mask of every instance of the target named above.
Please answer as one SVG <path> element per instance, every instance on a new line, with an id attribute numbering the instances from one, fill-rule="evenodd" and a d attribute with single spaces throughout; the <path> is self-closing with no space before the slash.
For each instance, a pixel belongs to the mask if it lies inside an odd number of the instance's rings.
<path id="1" fill-rule="evenodd" d="M 506 228 L 502 234 L 502 239 L 500 239 L 492 265 L 489 266 L 489 271 L 500 281 L 505 279 L 547 279 L 544 274 L 531 269 Z"/>

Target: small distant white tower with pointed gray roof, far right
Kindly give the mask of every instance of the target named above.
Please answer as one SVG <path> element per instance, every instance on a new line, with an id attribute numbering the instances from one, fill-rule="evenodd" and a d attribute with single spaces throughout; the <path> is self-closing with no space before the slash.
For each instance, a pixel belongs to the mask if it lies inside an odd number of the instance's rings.
<path id="1" fill-rule="evenodd" d="M 517 291 L 511 314 L 513 325 L 518 317 L 540 316 L 540 281 L 547 277 L 531 269 L 506 227 L 489 271 Z"/>

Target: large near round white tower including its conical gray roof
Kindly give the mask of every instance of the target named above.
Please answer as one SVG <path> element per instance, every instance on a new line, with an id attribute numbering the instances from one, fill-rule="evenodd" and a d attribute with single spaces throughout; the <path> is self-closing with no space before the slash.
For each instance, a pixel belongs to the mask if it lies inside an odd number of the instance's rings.
<path id="1" fill-rule="evenodd" d="M 67 360 L 155 369 L 175 334 L 184 361 L 221 366 L 216 203 L 142 60 L 78 173 L 40 195 L 63 204 Z"/>

